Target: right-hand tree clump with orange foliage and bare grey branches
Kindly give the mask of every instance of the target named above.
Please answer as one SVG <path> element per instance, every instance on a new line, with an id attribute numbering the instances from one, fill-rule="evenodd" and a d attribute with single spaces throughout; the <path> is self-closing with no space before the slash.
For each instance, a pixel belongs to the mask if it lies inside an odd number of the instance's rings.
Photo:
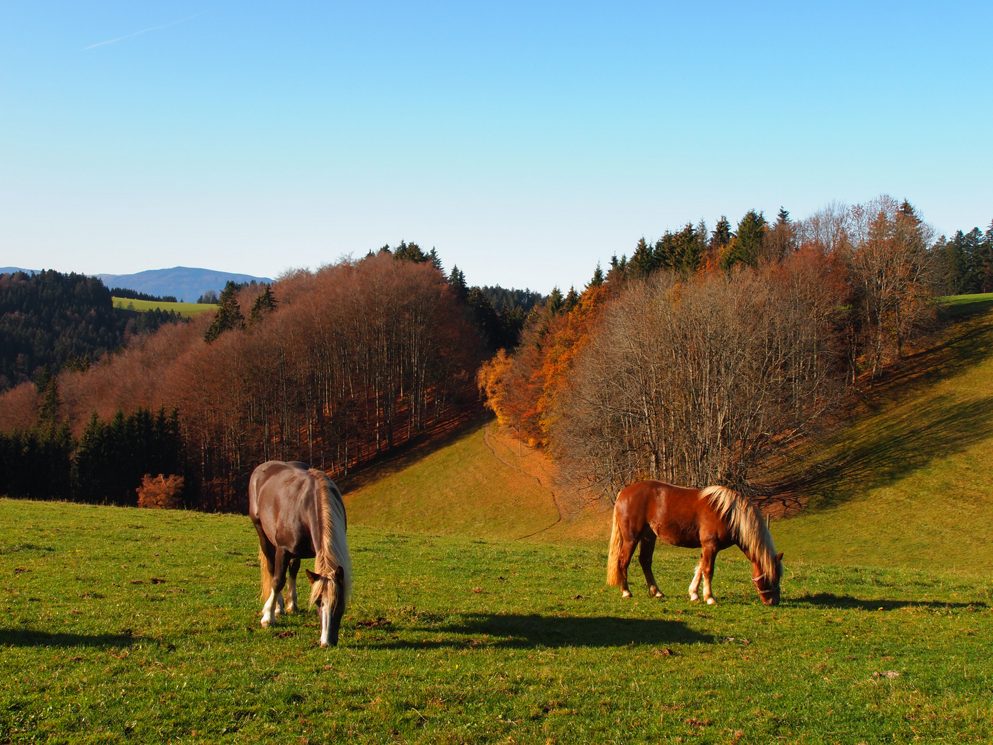
<path id="1" fill-rule="evenodd" d="M 613 256 L 582 292 L 553 290 L 478 381 L 500 424 L 591 494 L 644 478 L 754 494 L 846 391 L 935 327 L 937 296 L 985 286 L 983 241 L 935 240 L 888 197 L 798 222 L 687 223 Z"/>

